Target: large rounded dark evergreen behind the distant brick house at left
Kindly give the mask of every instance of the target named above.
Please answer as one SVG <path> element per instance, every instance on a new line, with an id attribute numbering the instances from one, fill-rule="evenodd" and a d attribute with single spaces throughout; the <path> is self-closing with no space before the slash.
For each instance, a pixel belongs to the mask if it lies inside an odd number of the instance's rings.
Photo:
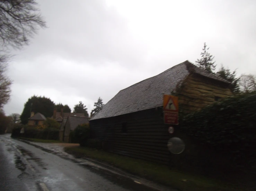
<path id="1" fill-rule="evenodd" d="M 46 118 L 52 117 L 54 110 L 54 102 L 50 98 L 32 96 L 24 104 L 23 112 L 20 115 L 20 120 L 22 124 L 27 124 L 28 118 L 30 117 L 30 112 L 42 113 Z"/>

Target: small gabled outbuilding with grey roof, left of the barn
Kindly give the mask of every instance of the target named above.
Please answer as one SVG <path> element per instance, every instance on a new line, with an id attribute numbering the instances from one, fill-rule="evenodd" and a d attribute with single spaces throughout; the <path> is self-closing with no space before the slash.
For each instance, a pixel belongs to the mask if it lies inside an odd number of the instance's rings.
<path id="1" fill-rule="evenodd" d="M 78 116 L 71 116 L 69 115 L 68 118 L 63 122 L 63 141 L 70 142 L 69 134 L 71 131 L 77 128 L 80 124 L 88 124 L 89 123 L 89 117 L 78 117 Z"/>

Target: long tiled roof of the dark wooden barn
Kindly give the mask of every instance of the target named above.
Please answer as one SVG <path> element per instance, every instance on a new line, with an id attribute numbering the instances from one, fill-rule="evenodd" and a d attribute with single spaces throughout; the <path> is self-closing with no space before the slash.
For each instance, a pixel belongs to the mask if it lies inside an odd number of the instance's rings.
<path id="1" fill-rule="evenodd" d="M 185 61 L 157 76 L 145 79 L 119 91 L 90 120 L 160 107 L 162 106 L 163 94 L 171 94 L 171 92 L 176 90 L 179 82 L 183 81 L 191 73 L 197 73 L 207 78 L 229 83 L 214 74 L 207 73 L 196 67 L 189 61 Z"/>

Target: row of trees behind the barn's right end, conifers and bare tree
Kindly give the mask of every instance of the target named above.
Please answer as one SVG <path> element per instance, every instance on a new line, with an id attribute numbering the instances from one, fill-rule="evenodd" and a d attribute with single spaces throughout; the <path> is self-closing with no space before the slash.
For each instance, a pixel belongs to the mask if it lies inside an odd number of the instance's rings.
<path id="1" fill-rule="evenodd" d="M 256 76 L 253 74 L 241 74 L 240 77 L 237 77 L 236 70 L 231 71 L 223 65 L 220 67 L 219 71 L 214 72 L 217 65 L 215 61 L 213 61 L 214 56 L 212 56 L 208 50 L 209 48 L 206 43 L 204 43 L 201 58 L 195 61 L 196 66 L 229 81 L 230 89 L 234 94 L 256 91 Z"/>

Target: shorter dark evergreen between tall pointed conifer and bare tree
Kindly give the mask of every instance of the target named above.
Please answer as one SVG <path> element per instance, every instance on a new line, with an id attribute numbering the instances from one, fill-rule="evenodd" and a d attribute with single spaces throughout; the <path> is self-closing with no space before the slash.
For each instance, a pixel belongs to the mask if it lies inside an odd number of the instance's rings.
<path id="1" fill-rule="evenodd" d="M 220 67 L 219 71 L 216 73 L 219 77 L 229 81 L 230 84 L 230 89 L 233 93 L 239 93 L 240 88 L 239 88 L 239 80 L 240 78 L 236 77 L 236 70 L 231 72 L 230 69 L 226 69 L 223 66 Z"/>

